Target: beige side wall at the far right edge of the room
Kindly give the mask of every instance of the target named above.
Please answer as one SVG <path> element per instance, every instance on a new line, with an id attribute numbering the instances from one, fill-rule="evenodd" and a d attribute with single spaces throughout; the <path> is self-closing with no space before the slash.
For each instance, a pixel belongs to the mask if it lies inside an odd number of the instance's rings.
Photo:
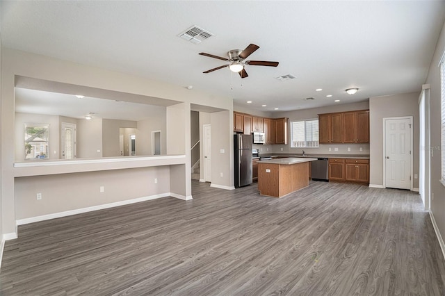
<path id="1" fill-rule="evenodd" d="M 445 237 L 445 187 L 440 183 L 441 176 L 441 115 L 440 115 L 440 69 L 438 67 L 445 50 L 445 26 L 442 28 L 434 57 L 432 58 L 426 84 L 430 84 L 430 144 L 431 147 L 431 194 L 430 213 L 433 222 L 437 225 L 437 231 Z M 420 91 L 420 90 L 419 90 Z M 442 241 L 443 243 L 443 241 Z M 442 245 L 445 247 L 445 245 Z"/>

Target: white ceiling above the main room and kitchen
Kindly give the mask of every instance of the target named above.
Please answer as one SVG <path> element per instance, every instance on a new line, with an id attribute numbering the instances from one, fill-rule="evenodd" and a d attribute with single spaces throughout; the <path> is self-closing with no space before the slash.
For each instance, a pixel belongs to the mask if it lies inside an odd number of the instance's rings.
<path id="1" fill-rule="evenodd" d="M 444 23 L 444 1 L 1 1 L 4 47 L 145 76 L 273 111 L 420 91 Z M 192 44 L 192 25 L 214 35 Z M 259 45 L 240 79 L 203 74 L 230 49 Z M 278 81 L 293 74 L 296 79 Z M 346 88 L 357 87 L 350 96 Z M 316 92 L 316 88 L 323 88 Z M 332 97 L 327 98 L 327 94 Z M 306 101 L 305 98 L 315 100 Z M 266 104 L 266 107 L 261 105 Z"/>

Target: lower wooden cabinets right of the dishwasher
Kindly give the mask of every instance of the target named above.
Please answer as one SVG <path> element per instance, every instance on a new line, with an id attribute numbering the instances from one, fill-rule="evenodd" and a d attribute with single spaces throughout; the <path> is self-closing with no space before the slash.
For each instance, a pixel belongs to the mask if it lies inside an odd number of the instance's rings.
<path id="1" fill-rule="evenodd" d="M 369 183 L 369 159 L 329 158 L 329 180 Z"/>

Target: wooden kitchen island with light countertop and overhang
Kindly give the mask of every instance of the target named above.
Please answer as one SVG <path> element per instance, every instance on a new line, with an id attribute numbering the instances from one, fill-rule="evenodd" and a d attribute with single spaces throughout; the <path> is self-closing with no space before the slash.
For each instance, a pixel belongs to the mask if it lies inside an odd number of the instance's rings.
<path id="1" fill-rule="evenodd" d="M 309 161 L 316 160 L 289 157 L 258 161 L 259 193 L 283 197 L 309 186 Z"/>

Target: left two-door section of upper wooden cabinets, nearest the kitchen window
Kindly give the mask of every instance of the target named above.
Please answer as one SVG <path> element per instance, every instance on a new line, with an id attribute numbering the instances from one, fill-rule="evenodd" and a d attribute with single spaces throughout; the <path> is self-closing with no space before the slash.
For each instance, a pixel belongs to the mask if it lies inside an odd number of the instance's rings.
<path id="1" fill-rule="evenodd" d="M 343 142 L 343 113 L 318 115 L 318 142 L 321 144 Z"/>

